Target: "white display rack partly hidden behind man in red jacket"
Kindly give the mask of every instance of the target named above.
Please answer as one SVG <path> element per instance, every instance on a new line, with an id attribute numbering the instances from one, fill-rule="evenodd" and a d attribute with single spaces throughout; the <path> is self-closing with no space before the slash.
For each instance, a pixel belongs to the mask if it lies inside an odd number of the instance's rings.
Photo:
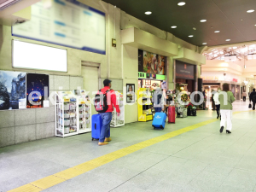
<path id="1" fill-rule="evenodd" d="M 125 125 L 125 105 L 124 105 L 124 96 L 119 91 L 115 91 L 117 101 L 119 103 L 120 115 L 116 113 L 116 109 L 113 108 L 113 116 L 110 123 L 112 127 L 119 127 Z"/>

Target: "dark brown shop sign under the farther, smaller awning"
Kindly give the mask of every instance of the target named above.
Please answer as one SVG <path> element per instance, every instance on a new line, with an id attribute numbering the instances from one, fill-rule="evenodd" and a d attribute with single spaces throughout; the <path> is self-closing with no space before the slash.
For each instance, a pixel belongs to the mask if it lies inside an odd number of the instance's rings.
<path id="1" fill-rule="evenodd" d="M 176 61 L 176 78 L 177 79 L 195 79 L 195 66 L 186 64 L 182 61 Z"/>

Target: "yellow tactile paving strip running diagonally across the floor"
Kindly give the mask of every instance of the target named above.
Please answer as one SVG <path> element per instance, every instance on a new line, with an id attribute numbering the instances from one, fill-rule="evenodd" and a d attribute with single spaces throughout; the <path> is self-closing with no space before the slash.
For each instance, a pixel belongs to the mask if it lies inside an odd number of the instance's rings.
<path id="1" fill-rule="evenodd" d="M 242 111 L 242 112 L 248 112 L 248 111 Z M 236 113 L 241 113 L 241 112 L 234 112 L 233 114 L 236 114 Z M 152 139 L 148 139 L 147 141 L 144 141 L 142 143 L 137 143 L 137 144 L 131 145 L 127 148 L 119 149 L 110 154 L 105 154 L 96 159 L 84 162 L 84 163 L 80 164 L 79 166 L 73 166 L 72 168 L 69 168 L 62 172 L 57 172 L 54 175 L 51 175 L 49 177 L 44 177 L 44 178 L 38 179 L 37 181 L 28 183 L 19 188 L 12 189 L 9 191 L 11 191 L 11 192 L 18 192 L 18 191 L 19 192 L 21 192 L 21 191 L 22 192 L 38 192 L 38 191 L 42 191 L 44 189 L 48 189 L 58 183 L 65 182 L 68 179 L 71 179 L 73 177 L 77 177 L 77 176 L 83 174 L 84 172 L 89 172 L 90 170 L 93 170 L 96 167 L 103 166 L 113 160 L 117 160 L 121 157 L 124 157 L 127 154 L 132 154 L 133 152 L 136 152 L 143 148 L 147 148 L 151 145 L 154 145 L 155 143 L 160 143 L 160 142 L 170 139 L 172 137 L 181 135 L 185 132 L 195 130 L 196 128 L 199 128 L 203 125 L 211 124 L 217 120 L 218 119 L 209 119 L 207 121 L 204 121 L 204 122 L 201 122 L 201 123 L 198 123 L 195 125 L 190 125 L 188 127 L 185 127 L 183 129 L 180 129 L 177 131 L 172 131 L 172 132 L 166 133 L 165 135 L 162 135 L 160 137 L 154 137 Z"/>

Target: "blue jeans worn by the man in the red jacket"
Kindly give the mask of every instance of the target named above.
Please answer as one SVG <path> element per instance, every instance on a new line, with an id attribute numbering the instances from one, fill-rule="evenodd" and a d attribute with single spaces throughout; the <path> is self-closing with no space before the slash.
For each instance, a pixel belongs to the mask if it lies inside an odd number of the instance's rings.
<path id="1" fill-rule="evenodd" d="M 100 113 L 100 115 L 102 117 L 102 131 L 99 142 L 103 143 L 106 137 L 110 137 L 110 122 L 112 119 L 112 113 Z"/>

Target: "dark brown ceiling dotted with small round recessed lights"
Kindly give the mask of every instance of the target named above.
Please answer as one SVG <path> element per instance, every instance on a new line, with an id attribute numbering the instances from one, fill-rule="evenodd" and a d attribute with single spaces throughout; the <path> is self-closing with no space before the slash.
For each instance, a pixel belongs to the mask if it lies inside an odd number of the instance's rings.
<path id="1" fill-rule="evenodd" d="M 177 6 L 182 0 L 104 1 L 190 44 L 215 46 L 256 40 L 256 11 L 247 14 L 248 9 L 256 10 L 256 0 L 183 0 L 186 5 L 182 7 Z M 146 11 L 153 14 L 145 15 Z M 202 19 L 207 22 L 201 23 Z M 225 41 L 228 38 L 230 42 Z"/>

